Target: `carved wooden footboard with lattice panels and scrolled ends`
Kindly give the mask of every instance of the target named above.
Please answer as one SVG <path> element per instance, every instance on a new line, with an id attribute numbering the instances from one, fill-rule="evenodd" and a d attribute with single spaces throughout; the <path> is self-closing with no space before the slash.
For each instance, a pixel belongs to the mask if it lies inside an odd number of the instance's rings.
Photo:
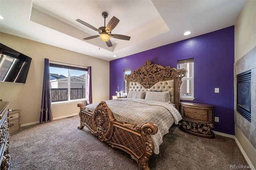
<path id="1" fill-rule="evenodd" d="M 157 133 L 156 125 L 135 125 L 117 121 L 104 101 L 100 102 L 94 112 L 86 109 L 82 103 L 78 103 L 77 107 L 80 107 L 78 129 L 86 126 L 101 141 L 130 154 L 138 163 L 140 170 L 150 169 L 148 160 L 154 152 L 151 135 Z"/>

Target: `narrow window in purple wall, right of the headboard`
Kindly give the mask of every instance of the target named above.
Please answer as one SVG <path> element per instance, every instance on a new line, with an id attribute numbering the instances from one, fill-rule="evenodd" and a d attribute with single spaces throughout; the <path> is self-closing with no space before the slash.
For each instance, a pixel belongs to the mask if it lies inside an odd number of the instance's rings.
<path id="1" fill-rule="evenodd" d="M 178 69 L 185 68 L 186 75 L 182 78 L 180 97 L 184 100 L 194 99 L 194 59 L 178 61 Z"/>

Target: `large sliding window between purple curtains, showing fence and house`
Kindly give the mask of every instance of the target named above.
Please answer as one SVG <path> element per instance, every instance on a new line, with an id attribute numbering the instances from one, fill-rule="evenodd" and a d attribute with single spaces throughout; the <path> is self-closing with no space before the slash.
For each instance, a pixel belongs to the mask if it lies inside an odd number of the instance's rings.
<path id="1" fill-rule="evenodd" d="M 50 63 L 52 102 L 86 99 L 87 76 L 87 68 Z"/>

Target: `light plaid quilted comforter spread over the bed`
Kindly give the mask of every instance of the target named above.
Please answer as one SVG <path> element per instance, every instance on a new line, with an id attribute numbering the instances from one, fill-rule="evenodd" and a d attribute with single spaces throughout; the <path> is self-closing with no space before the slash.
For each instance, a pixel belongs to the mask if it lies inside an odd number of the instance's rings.
<path id="1" fill-rule="evenodd" d="M 159 146 L 163 142 L 164 134 L 169 132 L 168 130 L 173 123 L 178 125 L 178 122 L 182 120 L 178 110 L 169 103 L 131 98 L 120 98 L 105 102 L 118 121 L 137 125 L 151 122 L 158 127 L 158 132 L 152 135 L 155 154 L 159 154 Z M 87 105 L 86 108 L 94 111 L 98 104 L 92 103 Z"/>

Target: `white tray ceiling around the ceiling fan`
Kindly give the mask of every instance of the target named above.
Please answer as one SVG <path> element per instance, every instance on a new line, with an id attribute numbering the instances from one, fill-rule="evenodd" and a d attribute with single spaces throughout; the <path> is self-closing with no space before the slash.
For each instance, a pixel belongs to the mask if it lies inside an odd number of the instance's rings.
<path id="1" fill-rule="evenodd" d="M 0 0 L 0 31 L 111 61 L 148 49 L 233 26 L 245 0 Z M 108 47 L 98 32 L 115 16 L 120 20 Z M 191 31 L 184 36 L 185 31 Z M 117 57 L 113 57 L 117 55 Z"/>

